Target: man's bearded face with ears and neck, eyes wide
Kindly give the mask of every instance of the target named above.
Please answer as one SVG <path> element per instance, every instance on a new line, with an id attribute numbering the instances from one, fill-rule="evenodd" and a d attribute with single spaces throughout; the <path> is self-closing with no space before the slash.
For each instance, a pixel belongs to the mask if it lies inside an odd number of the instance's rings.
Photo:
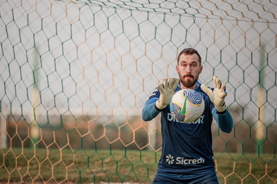
<path id="1" fill-rule="evenodd" d="M 199 58 L 196 53 L 192 55 L 182 54 L 179 57 L 179 64 L 176 65 L 177 73 L 180 77 L 181 89 L 196 88 L 199 74 L 202 72 L 202 66 L 199 65 Z"/>

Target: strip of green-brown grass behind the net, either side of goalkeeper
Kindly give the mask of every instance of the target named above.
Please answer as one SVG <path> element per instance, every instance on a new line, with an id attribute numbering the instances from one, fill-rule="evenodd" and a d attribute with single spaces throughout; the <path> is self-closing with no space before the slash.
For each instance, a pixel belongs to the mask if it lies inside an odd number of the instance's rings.
<path id="1" fill-rule="evenodd" d="M 151 183 L 160 152 L 16 148 L 0 151 L 1 183 Z M 274 154 L 214 156 L 220 183 L 277 183 Z M 242 181 L 243 180 L 243 181 Z"/>

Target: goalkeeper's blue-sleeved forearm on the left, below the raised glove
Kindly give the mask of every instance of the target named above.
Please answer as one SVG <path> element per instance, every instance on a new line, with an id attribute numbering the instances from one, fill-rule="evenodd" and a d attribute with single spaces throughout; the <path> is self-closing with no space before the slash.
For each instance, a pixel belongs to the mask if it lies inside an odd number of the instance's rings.
<path id="1" fill-rule="evenodd" d="M 155 102 L 157 100 L 158 98 L 152 98 L 145 103 L 145 106 L 142 110 L 143 121 L 150 121 L 158 116 L 160 112 L 155 108 Z"/>

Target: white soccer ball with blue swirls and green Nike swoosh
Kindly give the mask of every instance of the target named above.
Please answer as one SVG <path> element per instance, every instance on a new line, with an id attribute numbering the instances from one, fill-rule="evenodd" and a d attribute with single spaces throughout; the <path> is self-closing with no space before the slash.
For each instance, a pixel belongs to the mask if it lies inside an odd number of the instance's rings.
<path id="1" fill-rule="evenodd" d="M 179 122 L 191 123 L 204 112 L 203 97 L 193 89 L 177 91 L 170 101 L 170 111 Z"/>

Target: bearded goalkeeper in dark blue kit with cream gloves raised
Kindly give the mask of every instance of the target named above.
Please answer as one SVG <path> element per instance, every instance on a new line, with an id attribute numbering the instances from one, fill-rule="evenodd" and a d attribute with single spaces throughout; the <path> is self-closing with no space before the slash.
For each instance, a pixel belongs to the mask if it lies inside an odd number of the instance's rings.
<path id="1" fill-rule="evenodd" d="M 150 121 L 161 112 L 162 155 L 152 183 L 218 184 L 212 150 L 212 121 L 221 131 L 230 133 L 233 119 L 226 109 L 225 85 L 213 76 L 214 88 L 200 84 L 201 57 L 192 48 L 184 49 L 177 58 L 176 70 L 180 79 L 163 80 L 146 101 L 142 111 L 144 121 Z M 173 118 L 169 103 L 176 91 L 190 88 L 200 93 L 205 110 L 192 123 L 181 123 Z"/>

